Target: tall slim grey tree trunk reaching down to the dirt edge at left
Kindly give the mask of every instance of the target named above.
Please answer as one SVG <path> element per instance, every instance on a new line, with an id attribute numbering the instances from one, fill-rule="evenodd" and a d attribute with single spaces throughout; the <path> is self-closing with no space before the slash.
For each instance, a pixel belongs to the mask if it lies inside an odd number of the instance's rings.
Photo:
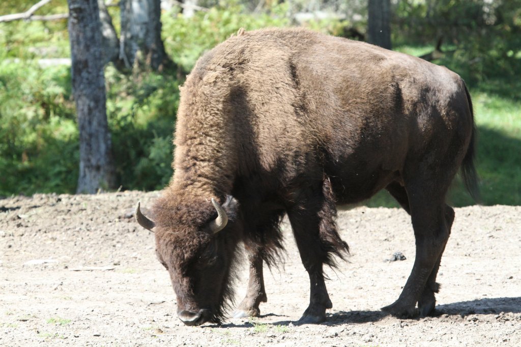
<path id="1" fill-rule="evenodd" d="M 67 0 L 72 91 L 80 131 L 78 193 L 114 187 L 115 170 L 105 109 L 102 35 L 97 0 Z"/>

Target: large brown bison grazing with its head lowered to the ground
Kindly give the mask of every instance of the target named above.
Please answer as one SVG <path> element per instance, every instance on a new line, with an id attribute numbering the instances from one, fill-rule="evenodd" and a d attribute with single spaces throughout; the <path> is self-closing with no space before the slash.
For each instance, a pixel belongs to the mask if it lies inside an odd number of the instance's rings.
<path id="1" fill-rule="evenodd" d="M 230 307 L 239 247 L 247 294 L 235 317 L 266 301 L 263 263 L 290 221 L 311 284 L 301 323 L 332 304 L 324 265 L 348 245 L 336 205 L 386 189 L 411 215 L 416 255 L 394 316 L 435 309 L 436 275 L 454 210 L 445 194 L 462 168 L 478 194 L 475 126 L 464 81 L 445 67 L 303 29 L 240 31 L 205 53 L 180 88 L 175 173 L 153 206 L 138 207 L 186 325 L 220 323 Z"/>

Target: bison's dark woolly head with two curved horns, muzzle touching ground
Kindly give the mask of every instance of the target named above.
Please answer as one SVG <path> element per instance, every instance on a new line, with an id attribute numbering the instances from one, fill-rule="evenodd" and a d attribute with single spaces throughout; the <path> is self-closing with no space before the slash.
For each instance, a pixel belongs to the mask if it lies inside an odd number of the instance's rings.
<path id="1" fill-rule="evenodd" d="M 178 203 L 176 203 L 177 201 Z M 156 237 L 159 261 L 170 274 L 177 295 L 177 314 L 186 325 L 220 323 L 229 299 L 239 240 L 238 203 L 211 199 L 194 204 L 163 198 L 155 222 L 135 211 L 135 218 Z"/>

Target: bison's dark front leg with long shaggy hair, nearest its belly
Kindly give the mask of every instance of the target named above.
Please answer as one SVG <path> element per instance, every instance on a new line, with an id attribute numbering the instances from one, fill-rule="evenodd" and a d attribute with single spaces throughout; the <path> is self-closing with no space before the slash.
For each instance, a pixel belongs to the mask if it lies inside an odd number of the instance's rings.
<path id="1" fill-rule="evenodd" d="M 324 264 L 332 265 L 331 253 L 342 257 L 348 245 L 340 239 L 334 218 L 336 206 L 331 196 L 329 180 L 322 187 L 309 187 L 297 193 L 299 201 L 288 209 L 300 257 L 309 274 L 309 306 L 299 320 L 301 324 L 321 323 L 326 309 L 333 305 L 324 281 Z"/>

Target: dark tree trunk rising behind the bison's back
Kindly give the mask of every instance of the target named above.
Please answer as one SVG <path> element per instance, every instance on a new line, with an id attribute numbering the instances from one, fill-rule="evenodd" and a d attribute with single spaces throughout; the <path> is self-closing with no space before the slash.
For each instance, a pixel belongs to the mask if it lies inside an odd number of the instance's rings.
<path id="1" fill-rule="evenodd" d="M 390 0 L 368 0 L 368 40 L 369 43 L 391 49 Z"/>

